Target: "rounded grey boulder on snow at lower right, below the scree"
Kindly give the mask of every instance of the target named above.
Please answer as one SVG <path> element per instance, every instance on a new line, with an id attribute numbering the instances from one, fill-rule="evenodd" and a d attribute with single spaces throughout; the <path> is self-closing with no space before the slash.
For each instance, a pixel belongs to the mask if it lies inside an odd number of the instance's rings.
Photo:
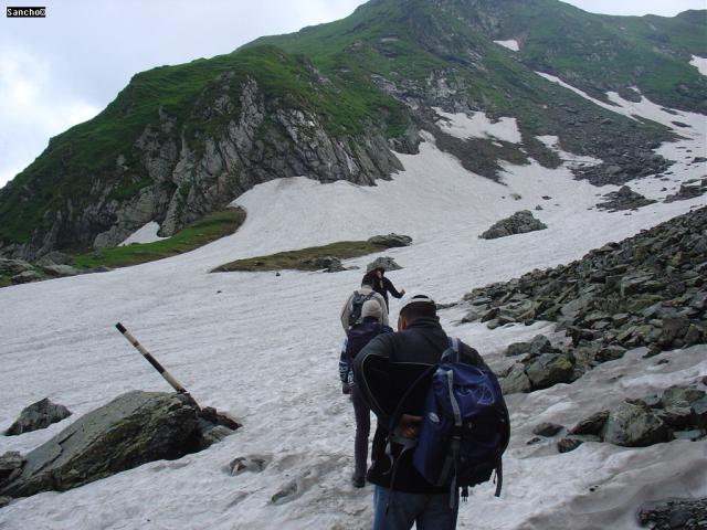
<path id="1" fill-rule="evenodd" d="M 609 413 L 602 431 L 604 442 L 623 447 L 646 447 L 672 439 L 667 425 L 646 404 L 621 404 Z"/>

